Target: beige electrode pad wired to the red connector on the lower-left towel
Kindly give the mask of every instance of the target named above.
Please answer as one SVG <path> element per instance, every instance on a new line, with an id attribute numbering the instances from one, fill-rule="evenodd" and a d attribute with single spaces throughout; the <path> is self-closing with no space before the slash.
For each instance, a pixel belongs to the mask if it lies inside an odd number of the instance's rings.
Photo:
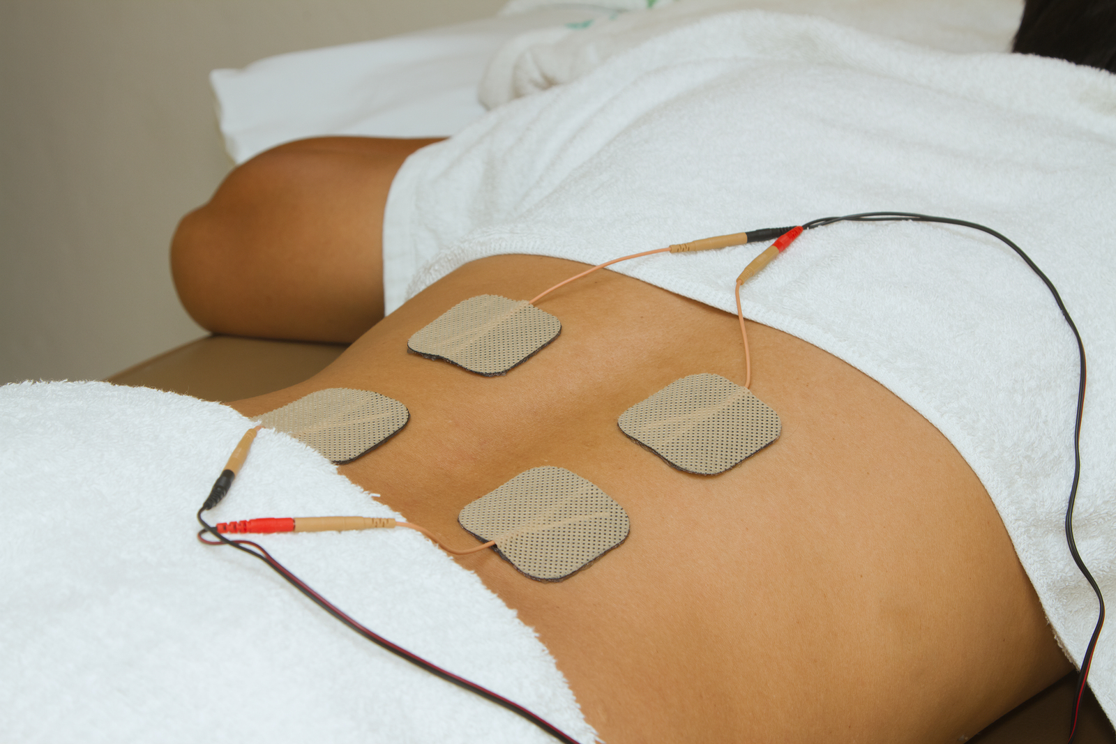
<path id="1" fill-rule="evenodd" d="M 512 566 L 558 581 L 624 542 L 627 512 L 580 475 L 545 465 L 520 473 L 461 510 L 461 526 Z"/>

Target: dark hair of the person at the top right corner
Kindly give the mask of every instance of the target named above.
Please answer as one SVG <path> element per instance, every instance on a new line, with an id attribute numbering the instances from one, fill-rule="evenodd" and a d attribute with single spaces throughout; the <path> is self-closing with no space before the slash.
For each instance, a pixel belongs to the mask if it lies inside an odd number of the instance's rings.
<path id="1" fill-rule="evenodd" d="M 1116 0 L 1027 0 L 1011 50 L 1116 73 Z"/>

